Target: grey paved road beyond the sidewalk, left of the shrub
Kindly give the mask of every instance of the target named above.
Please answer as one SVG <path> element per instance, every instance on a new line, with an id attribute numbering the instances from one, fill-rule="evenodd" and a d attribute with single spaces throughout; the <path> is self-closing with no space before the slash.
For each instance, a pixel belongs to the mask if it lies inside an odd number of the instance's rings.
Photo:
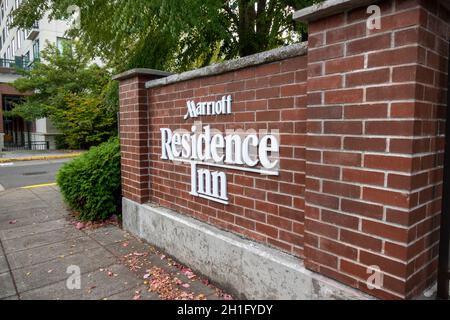
<path id="1" fill-rule="evenodd" d="M 0 163 L 0 191 L 52 183 L 58 169 L 72 159 Z"/>

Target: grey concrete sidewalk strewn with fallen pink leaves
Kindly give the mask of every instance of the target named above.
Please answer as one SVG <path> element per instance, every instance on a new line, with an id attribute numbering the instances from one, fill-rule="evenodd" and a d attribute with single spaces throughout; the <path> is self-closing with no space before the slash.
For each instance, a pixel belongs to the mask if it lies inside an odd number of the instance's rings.
<path id="1" fill-rule="evenodd" d="M 0 299 L 229 298 L 117 226 L 69 218 L 57 187 L 0 192 Z"/>

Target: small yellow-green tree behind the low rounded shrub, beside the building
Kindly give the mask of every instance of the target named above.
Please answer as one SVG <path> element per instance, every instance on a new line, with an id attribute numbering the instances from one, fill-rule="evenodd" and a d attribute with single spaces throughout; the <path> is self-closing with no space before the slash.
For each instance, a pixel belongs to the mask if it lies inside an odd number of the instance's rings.
<path id="1" fill-rule="evenodd" d="M 30 70 L 13 82 L 21 91 L 32 93 L 9 113 L 26 120 L 48 117 L 69 148 L 88 148 L 108 140 L 117 130 L 117 100 L 110 92 L 111 74 L 90 63 L 77 43 L 62 51 L 48 44 Z"/>

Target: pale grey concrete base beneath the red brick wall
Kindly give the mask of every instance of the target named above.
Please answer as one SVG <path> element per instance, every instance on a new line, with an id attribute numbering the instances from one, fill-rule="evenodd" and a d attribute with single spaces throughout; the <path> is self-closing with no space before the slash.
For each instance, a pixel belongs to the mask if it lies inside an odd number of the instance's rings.
<path id="1" fill-rule="evenodd" d="M 123 198 L 124 229 L 243 299 L 370 299 L 267 246 L 151 204 Z"/>

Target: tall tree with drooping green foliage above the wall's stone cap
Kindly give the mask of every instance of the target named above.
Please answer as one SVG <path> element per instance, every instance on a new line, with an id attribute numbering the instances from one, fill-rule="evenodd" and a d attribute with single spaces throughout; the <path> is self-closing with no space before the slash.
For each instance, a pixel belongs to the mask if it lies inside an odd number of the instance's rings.
<path id="1" fill-rule="evenodd" d="M 24 0 L 14 25 L 29 28 L 46 12 L 67 18 L 80 8 L 78 37 L 118 71 L 182 71 L 306 39 L 292 12 L 319 0 Z"/>

